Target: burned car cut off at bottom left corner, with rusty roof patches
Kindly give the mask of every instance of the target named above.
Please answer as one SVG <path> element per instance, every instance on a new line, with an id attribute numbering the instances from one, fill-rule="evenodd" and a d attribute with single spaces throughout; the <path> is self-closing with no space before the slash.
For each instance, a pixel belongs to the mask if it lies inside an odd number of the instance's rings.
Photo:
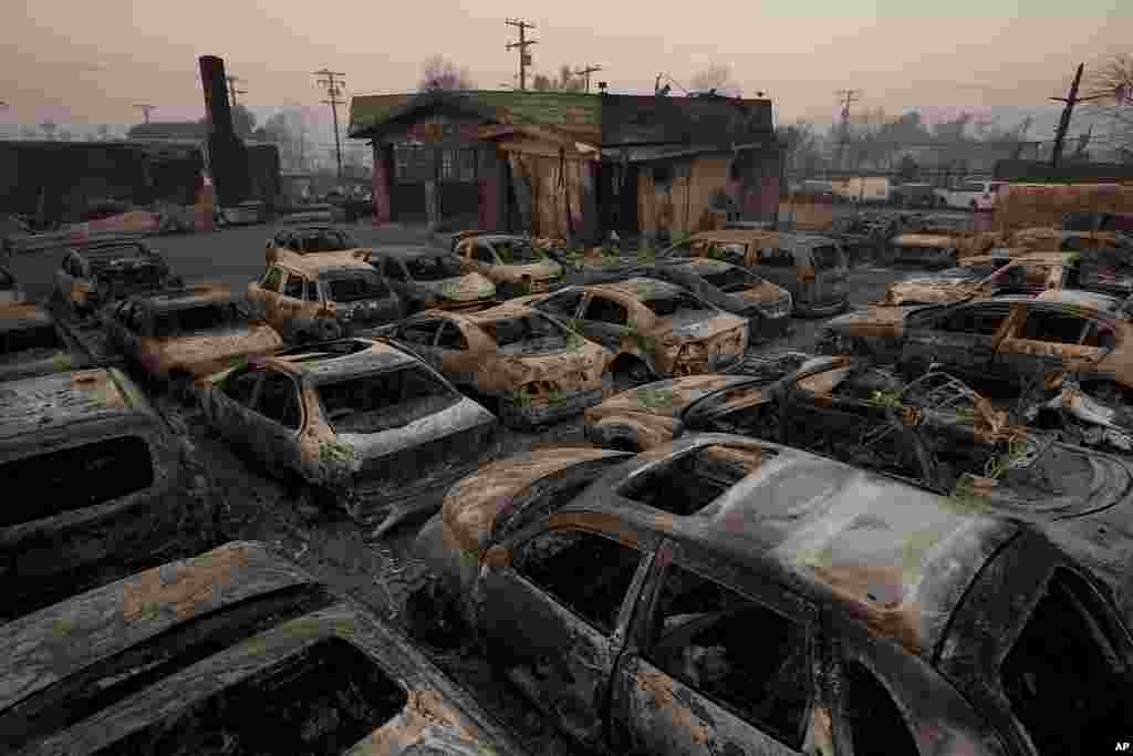
<path id="1" fill-rule="evenodd" d="M 7 754 L 521 751 L 397 630 L 232 542 L 0 627 Z"/>

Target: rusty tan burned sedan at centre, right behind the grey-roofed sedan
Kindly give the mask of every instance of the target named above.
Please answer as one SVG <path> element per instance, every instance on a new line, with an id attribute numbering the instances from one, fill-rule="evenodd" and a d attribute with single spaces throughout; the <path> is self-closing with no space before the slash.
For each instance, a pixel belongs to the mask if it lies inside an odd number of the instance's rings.
<path id="1" fill-rule="evenodd" d="M 399 323 L 392 338 L 512 427 L 577 415 L 613 390 L 613 352 L 519 304 L 427 311 Z"/>

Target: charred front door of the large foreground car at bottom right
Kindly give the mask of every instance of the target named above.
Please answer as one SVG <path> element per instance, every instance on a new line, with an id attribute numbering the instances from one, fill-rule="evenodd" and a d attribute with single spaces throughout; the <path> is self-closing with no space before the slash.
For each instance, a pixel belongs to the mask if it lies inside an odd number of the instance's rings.
<path id="1" fill-rule="evenodd" d="M 588 747 L 604 740 L 610 678 L 650 543 L 630 528 L 544 521 L 493 549 L 474 588 L 478 629 L 505 654 L 509 678 Z"/>

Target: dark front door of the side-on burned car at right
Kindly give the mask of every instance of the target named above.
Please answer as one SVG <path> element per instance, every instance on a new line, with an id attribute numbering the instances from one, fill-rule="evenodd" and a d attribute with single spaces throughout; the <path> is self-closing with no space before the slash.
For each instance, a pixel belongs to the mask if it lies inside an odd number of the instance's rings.
<path id="1" fill-rule="evenodd" d="M 998 303 L 963 304 L 923 317 L 913 313 L 901 362 L 925 367 L 939 363 L 954 373 L 987 377 L 1010 315 L 1010 305 Z"/>

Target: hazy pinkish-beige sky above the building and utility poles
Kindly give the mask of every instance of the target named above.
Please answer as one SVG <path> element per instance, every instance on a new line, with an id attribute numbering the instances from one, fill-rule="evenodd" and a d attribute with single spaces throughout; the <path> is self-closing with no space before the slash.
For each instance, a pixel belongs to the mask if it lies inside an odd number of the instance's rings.
<path id="1" fill-rule="evenodd" d="M 1074 66 L 1133 51 L 1133 0 L 748 0 L 735 3 L 308 0 L 3 0 L 0 122 L 123 124 L 197 117 L 196 59 L 216 54 L 262 107 L 317 105 L 310 71 L 347 74 L 349 94 L 411 90 L 443 53 L 482 88 L 516 74 L 504 19 L 526 12 L 535 70 L 597 63 L 614 92 L 651 92 L 667 73 L 730 65 L 780 118 L 828 122 L 834 91 L 860 105 L 1032 108 Z M 920 10 L 919 10 L 920 9 Z M 1024 10 L 1025 9 L 1025 10 Z"/>

